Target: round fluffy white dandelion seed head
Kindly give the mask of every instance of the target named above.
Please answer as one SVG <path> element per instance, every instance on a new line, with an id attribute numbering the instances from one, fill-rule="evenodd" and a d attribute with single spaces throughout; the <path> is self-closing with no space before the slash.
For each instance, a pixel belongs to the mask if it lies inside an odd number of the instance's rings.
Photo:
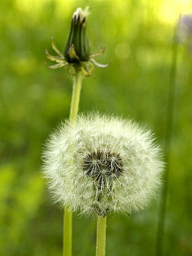
<path id="1" fill-rule="evenodd" d="M 43 152 L 55 201 L 81 214 L 143 209 L 160 185 L 163 166 L 151 132 L 98 114 L 61 124 Z"/>

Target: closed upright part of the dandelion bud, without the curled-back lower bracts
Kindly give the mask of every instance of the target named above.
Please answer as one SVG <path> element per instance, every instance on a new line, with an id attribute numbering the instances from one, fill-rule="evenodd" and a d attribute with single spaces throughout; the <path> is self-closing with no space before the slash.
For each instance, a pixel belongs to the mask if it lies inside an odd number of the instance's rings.
<path id="1" fill-rule="evenodd" d="M 90 46 L 86 35 L 87 15 L 87 8 L 84 11 L 81 8 L 77 8 L 73 14 L 71 29 L 66 49 L 64 50 L 64 57 L 69 63 L 78 63 L 80 60 L 88 61 L 90 58 Z"/>

